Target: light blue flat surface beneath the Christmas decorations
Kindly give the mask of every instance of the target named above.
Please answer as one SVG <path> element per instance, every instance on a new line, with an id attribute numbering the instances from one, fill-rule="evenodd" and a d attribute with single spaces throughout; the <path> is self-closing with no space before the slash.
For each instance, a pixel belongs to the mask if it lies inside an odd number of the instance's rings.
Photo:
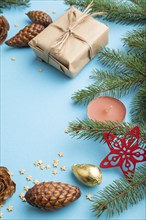
<path id="1" fill-rule="evenodd" d="M 50 16 L 56 20 L 68 6 L 63 1 L 32 0 L 29 7 L 13 7 L 4 10 L 3 15 L 10 23 L 7 39 L 14 36 L 30 21 L 25 15 L 30 10 L 50 10 Z M 53 13 L 53 12 L 56 13 Z M 132 25 L 121 25 L 104 21 L 109 26 L 108 47 L 122 49 L 121 38 Z M 18 24 L 18 27 L 15 27 Z M 91 212 L 91 202 L 86 194 L 95 194 L 113 180 L 123 177 L 119 168 L 102 169 L 103 181 L 99 186 L 89 188 L 81 184 L 72 174 L 71 166 L 74 163 L 91 163 L 99 166 L 109 152 L 106 144 L 93 140 L 77 140 L 71 138 L 64 130 L 68 123 L 76 118 L 87 118 L 87 106 L 74 104 L 71 96 L 74 92 L 92 83 L 89 76 L 94 68 L 102 68 L 95 57 L 73 79 L 68 78 L 55 68 L 40 62 L 31 48 L 10 48 L 5 44 L 0 47 L 1 59 L 1 165 L 6 166 L 13 174 L 17 184 L 16 193 L 7 200 L 1 208 L 3 219 L 96 219 Z M 15 57 L 16 60 L 11 60 Z M 42 69 L 39 72 L 38 69 Z M 129 106 L 132 95 L 121 99 L 126 106 L 125 121 L 130 121 Z M 59 157 L 58 152 L 64 152 Z M 58 167 L 58 174 L 53 175 L 52 163 L 59 159 L 59 165 L 65 165 L 66 171 Z M 40 170 L 34 162 L 42 160 L 50 164 L 50 169 Z M 24 175 L 19 174 L 25 169 Z M 44 212 L 29 206 L 19 198 L 25 193 L 24 186 L 33 186 L 26 177 L 31 175 L 39 182 L 60 181 L 80 187 L 82 196 L 76 202 L 64 209 L 54 212 Z M 6 209 L 14 207 L 13 212 Z M 145 201 L 130 207 L 115 220 L 144 220 Z M 105 219 L 103 218 L 99 219 Z"/>

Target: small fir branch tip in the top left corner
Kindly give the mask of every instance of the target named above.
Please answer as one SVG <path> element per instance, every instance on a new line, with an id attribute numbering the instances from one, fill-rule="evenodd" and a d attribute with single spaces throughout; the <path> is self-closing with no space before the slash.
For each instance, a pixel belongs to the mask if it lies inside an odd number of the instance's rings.
<path id="1" fill-rule="evenodd" d="M 2 0 L 0 1 L 0 8 L 7 8 L 12 5 L 17 6 L 28 6 L 30 0 Z M 0 10 L 0 13 L 2 13 L 2 10 Z"/>

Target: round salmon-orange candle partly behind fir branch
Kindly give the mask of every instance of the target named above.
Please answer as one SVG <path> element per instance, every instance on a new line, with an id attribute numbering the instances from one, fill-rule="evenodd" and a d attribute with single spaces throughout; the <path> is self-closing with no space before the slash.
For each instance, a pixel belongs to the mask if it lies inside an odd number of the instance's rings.
<path id="1" fill-rule="evenodd" d="M 122 122 L 126 115 L 126 108 L 118 99 L 101 96 L 89 103 L 87 114 L 93 121 Z"/>

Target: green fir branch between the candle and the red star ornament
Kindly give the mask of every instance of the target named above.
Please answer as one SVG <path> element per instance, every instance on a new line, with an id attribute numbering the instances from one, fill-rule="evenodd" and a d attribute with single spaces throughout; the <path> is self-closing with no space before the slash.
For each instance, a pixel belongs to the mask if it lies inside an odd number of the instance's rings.
<path id="1" fill-rule="evenodd" d="M 83 138 L 88 140 L 92 138 L 94 141 L 97 141 L 98 139 L 102 141 L 104 132 L 110 132 L 115 128 L 112 131 L 113 134 L 117 136 L 125 135 L 134 126 L 134 124 L 126 122 L 100 122 L 90 119 L 77 119 L 76 121 L 69 123 L 67 133 L 78 139 Z M 146 129 L 144 125 L 141 125 L 141 137 L 146 140 Z"/>

